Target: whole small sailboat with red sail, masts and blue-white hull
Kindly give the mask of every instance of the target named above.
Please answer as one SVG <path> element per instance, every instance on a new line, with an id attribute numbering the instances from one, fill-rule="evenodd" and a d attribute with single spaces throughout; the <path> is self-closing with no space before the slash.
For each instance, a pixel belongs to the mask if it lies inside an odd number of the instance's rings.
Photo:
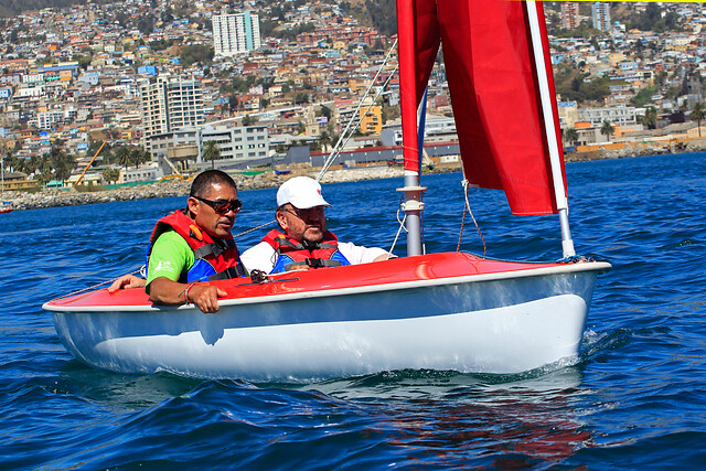
<path id="1" fill-rule="evenodd" d="M 120 373 L 310 382 L 403 368 L 521 373 L 575 357 L 603 261 L 576 256 L 542 6 L 398 0 L 407 257 L 214 281 L 217 314 L 96 289 L 44 304 L 79 361 Z M 443 43 L 470 184 L 558 214 L 563 259 L 424 254 L 418 105 Z M 558 238 L 558 237 L 557 237 Z"/>

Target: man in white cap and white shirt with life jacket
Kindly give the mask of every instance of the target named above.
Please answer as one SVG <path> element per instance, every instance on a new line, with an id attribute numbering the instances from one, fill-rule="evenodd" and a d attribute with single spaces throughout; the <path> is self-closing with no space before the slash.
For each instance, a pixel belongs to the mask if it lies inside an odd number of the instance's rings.
<path id="1" fill-rule="evenodd" d="M 386 250 L 340 243 L 327 231 L 321 185 L 309 176 L 295 176 L 277 191 L 277 222 L 281 231 L 270 231 L 240 259 L 248 270 L 277 274 L 386 260 Z"/>

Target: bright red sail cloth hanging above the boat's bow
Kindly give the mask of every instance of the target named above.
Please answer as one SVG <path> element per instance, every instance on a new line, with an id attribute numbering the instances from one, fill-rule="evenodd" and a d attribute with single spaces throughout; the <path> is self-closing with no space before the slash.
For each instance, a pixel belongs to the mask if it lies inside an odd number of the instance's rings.
<path id="1" fill-rule="evenodd" d="M 418 169 L 416 109 L 441 43 L 466 178 L 503 190 L 513 214 L 553 214 L 527 8 L 513 0 L 397 0 L 405 170 Z M 546 24 L 536 8 L 565 180 Z"/>

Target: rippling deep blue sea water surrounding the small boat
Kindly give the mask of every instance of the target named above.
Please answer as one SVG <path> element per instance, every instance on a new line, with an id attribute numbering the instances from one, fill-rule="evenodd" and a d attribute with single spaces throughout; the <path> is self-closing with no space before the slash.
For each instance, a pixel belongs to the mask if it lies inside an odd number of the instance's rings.
<path id="1" fill-rule="evenodd" d="M 613 269 L 578 361 L 518 375 L 291 385 L 97 371 L 64 350 L 42 303 L 139 268 L 154 221 L 184 199 L 0 214 L 0 469 L 706 468 L 706 154 L 569 163 L 567 179 L 577 251 Z M 329 227 L 389 247 L 402 183 L 325 184 Z M 427 250 L 456 250 L 461 175 L 422 183 Z M 242 192 L 234 233 L 271 221 L 275 192 Z M 463 250 L 561 257 L 556 216 L 512 216 L 498 191 L 469 201 L 483 238 L 467 217 Z"/>

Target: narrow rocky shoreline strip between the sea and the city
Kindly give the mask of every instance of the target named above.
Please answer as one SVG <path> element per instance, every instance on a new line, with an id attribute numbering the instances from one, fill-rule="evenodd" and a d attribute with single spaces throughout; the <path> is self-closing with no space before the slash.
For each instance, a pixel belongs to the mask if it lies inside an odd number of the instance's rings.
<path id="1" fill-rule="evenodd" d="M 677 152 L 698 152 L 704 149 L 686 149 Z M 644 157 L 651 154 L 665 154 L 664 151 L 648 151 L 639 154 L 628 154 L 624 151 L 596 150 L 588 152 L 568 152 L 565 154 L 565 162 L 585 162 L 592 160 L 623 159 L 632 157 Z M 672 152 L 668 152 L 672 153 Z M 295 165 L 297 167 L 297 165 Z M 436 165 L 434 170 L 425 173 L 449 173 L 461 170 L 460 163 Z M 311 167 L 292 168 L 287 175 L 277 175 L 274 171 L 257 175 L 233 174 L 239 191 L 259 190 L 266 188 L 277 188 L 291 176 L 308 175 L 315 178 L 319 169 Z M 321 180 L 322 183 L 350 182 L 359 180 L 377 180 L 400 178 L 404 175 L 402 167 L 356 167 L 352 169 L 329 170 Z M 11 202 L 13 211 L 39 210 L 44 207 L 74 206 L 81 204 L 110 203 L 115 201 L 146 200 L 152 197 L 186 196 L 191 186 L 190 180 L 167 180 L 160 183 L 150 183 L 140 186 L 120 188 L 117 190 L 98 190 L 93 192 L 79 192 L 69 190 L 42 190 L 36 193 L 20 191 L 6 191 L 3 201 Z"/>

